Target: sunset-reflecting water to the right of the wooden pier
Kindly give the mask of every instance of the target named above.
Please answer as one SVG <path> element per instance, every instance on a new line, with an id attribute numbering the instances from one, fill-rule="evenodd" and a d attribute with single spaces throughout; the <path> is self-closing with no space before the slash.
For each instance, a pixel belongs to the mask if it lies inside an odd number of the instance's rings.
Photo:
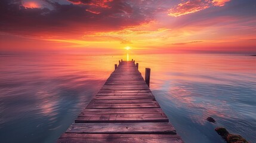
<path id="1" fill-rule="evenodd" d="M 215 126 L 256 140 L 252 136 L 256 133 L 255 58 L 217 54 L 137 56 L 133 58 L 140 60 L 143 75 L 145 67 L 151 68 L 150 88 L 185 142 L 197 142 L 202 135 L 207 138 L 201 142 L 221 142 L 216 133 L 209 133 Z M 206 122 L 208 116 L 217 123 Z"/>

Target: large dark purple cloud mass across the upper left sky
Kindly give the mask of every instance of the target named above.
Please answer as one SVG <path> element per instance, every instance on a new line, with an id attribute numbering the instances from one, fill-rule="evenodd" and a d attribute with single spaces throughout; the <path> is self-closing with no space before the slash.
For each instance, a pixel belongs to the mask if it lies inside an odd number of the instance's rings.
<path id="1" fill-rule="evenodd" d="M 0 32 L 32 36 L 83 35 L 147 23 L 159 10 L 147 8 L 152 3 L 143 5 L 141 1 L 69 0 L 70 4 L 43 1 L 51 8 L 27 8 L 21 0 L 1 0 Z"/>

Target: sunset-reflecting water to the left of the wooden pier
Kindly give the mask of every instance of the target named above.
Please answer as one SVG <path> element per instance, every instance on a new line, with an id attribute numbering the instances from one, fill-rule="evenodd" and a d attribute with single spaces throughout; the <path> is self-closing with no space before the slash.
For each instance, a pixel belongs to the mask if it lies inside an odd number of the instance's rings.
<path id="1" fill-rule="evenodd" d="M 121 57 L 2 55 L 2 141 L 54 142 L 101 88 Z"/>

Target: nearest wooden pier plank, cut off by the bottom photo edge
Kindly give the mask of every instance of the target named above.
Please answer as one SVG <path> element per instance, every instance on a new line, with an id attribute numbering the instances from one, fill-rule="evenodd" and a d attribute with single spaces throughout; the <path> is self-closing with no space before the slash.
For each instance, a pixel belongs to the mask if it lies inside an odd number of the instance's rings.
<path id="1" fill-rule="evenodd" d="M 60 142 L 137 142 L 137 143 L 184 143 L 178 135 L 138 135 L 138 134 L 89 134 L 89 133 L 64 133 L 58 139 Z"/>

